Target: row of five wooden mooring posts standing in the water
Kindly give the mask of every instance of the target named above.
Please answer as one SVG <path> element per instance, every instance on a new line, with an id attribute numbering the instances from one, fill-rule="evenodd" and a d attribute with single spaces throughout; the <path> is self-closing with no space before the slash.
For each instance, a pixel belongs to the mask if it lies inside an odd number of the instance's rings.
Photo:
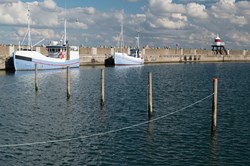
<path id="1" fill-rule="evenodd" d="M 37 64 L 35 64 L 35 90 L 38 91 Z M 101 107 L 104 107 L 104 69 L 101 69 Z M 213 79 L 213 100 L 212 100 L 212 125 L 211 131 L 216 131 L 217 125 L 217 96 L 218 96 L 218 78 Z M 152 73 L 148 73 L 148 116 L 153 113 L 153 97 L 152 97 Z M 67 98 L 70 98 L 70 67 L 67 66 Z"/>

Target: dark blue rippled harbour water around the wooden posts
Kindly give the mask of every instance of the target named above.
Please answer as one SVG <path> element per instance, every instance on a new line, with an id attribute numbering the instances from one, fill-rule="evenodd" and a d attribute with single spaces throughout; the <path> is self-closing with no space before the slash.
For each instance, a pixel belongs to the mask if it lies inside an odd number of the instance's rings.
<path id="1" fill-rule="evenodd" d="M 153 117 L 147 122 L 147 73 Z M 66 71 L 0 72 L 0 165 L 249 165 L 250 64 L 162 64 Z M 216 135 L 211 136 L 212 79 L 219 78 Z M 108 132 L 128 127 L 126 130 Z M 98 133 L 106 134 L 95 135 Z M 68 140 L 65 140 L 68 139 Z M 51 142 L 51 140 L 64 140 Z M 2 147 L 7 144 L 40 144 Z"/>

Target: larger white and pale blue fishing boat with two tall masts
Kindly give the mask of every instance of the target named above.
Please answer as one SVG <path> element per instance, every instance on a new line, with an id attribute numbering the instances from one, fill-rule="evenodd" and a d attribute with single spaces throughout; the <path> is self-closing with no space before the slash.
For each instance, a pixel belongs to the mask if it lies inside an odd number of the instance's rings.
<path id="1" fill-rule="evenodd" d="M 29 9 L 28 9 L 29 11 Z M 79 48 L 76 46 L 69 46 L 66 40 L 66 19 L 64 23 L 64 36 L 60 42 L 50 42 L 46 46 L 47 55 L 43 55 L 38 51 L 33 50 L 30 35 L 30 21 L 28 14 L 28 48 L 19 48 L 13 54 L 15 70 L 34 70 L 35 64 L 38 69 L 62 69 L 67 66 L 79 67 Z M 25 39 L 24 37 L 24 39 Z M 23 40 L 24 41 L 24 40 Z"/>

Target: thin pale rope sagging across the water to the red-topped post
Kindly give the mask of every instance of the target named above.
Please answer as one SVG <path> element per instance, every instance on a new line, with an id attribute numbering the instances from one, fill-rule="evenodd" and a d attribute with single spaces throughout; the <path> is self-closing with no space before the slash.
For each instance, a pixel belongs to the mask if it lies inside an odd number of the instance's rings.
<path id="1" fill-rule="evenodd" d="M 145 122 L 141 122 L 141 123 L 138 123 L 138 124 L 134 124 L 134 125 L 131 125 L 131 126 L 127 126 L 127 127 L 123 127 L 123 128 L 120 128 L 120 129 L 116 129 L 116 130 L 110 130 L 110 131 L 106 131 L 106 132 L 101 132 L 101 133 L 96 133 L 96 134 L 91 134 L 91 135 L 87 135 L 87 136 L 79 136 L 79 137 L 75 137 L 75 138 L 67 138 L 67 139 L 60 139 L 60 140 L 51 140 L 51 141 L 42 141 L 42 142 L 32 142 L 32 143 L 22 143 L 22 144 L 7 144 L 7 145 L 0 145 L 0 148 L 6 148 L 6 147 L 20 147 L 20 146 L 31 146 L 31 145 L 41 145 L 41 144 L 48 144 L 48 143 L 58 143 L 58 142 L 67 142 L 67 141 L 73 141 L 73 140 L 78 140 L 78 139 L 85 139 L 85 138 L 90 138 L 90 137 L 95 137 L 95 136 L 102 136 L 102 135 L 106 135 L 106 134 L 111 134 L 111 133 L 115 133 L 115 132 L 119 132 L 119 131 L 123 131 L 123 130 L 127 130 L 127 129 L 131 129 L 131 128 L 134 128 L 134 127 L 138 127 L 138 126 L 141 126 L 141 125 L 144 125 L 144 124 L 147 124 L 149 122 L 154 122 L 154 121 L 157 121 L 157 120 L 160 120 L 160 119 L 163 119 L 169 115 L 173 115 L 177 112 L 180 112 L 180 111 L 183 111 L 189 107 L 192 107 L 206 99 L 208 99 L 209 97 L 211 97 L 212 95 L 214 95 L 214 93 L 204 97 L 203 99 L 200 99 L 186 107 L 183 107 L 179 110 L 176 110 L 174 112 L 171 112 L 171 113 L 168 113 L 166 115 L 163 115 L 163 116 L 160 116 L 158 118 L 155 118 L 155 119 L 152 119 L 152 120 L 148 120 L 148 121 L 145 121 Z"/>

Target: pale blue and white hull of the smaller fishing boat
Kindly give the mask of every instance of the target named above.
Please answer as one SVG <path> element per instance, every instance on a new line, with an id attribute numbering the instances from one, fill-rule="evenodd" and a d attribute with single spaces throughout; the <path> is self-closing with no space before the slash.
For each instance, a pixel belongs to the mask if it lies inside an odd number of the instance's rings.
<path id="1" fill-rule="evenodd" d="M 115 53 L 114 62 L 115 65 L 142 65 L 144 64 L 144 59 L 132 57 L 126 53 Z"/>

